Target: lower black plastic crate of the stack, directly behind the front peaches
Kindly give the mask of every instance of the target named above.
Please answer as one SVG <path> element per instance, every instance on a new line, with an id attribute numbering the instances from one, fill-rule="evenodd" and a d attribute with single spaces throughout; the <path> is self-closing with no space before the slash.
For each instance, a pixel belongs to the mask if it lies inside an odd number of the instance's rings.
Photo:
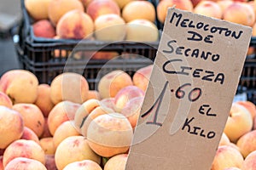
<path id="1" fill-rule="evenodd" d="M 62 72 L 77 72 L 83 75 L 89 82 L 90 89 L 96 89 L 96 83 L 100 78 L 106 75 L 110 71 L 122 70 L 129 75 L 133 75 L 135 71 L 143 66 L 152 64 L 152 61 L 145 58 L 129 59 L 129 56 L 119 57 L 113 60 L 98 60 L 91 59 L 78 60 L 78 61 L 49 61 L 45 65 L 35 66 L 30 64 L 30 60 L 25 55 L 21 61 L 23 68 L 27 71 L 32 71 L 37 77 L 40 83 L 50 83 L 56 76 Z"/>

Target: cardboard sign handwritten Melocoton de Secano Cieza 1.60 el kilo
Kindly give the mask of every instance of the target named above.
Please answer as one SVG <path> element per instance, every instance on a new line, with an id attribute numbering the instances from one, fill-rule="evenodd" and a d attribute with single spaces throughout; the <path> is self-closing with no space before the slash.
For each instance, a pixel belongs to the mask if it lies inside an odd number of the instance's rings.
<path id="1" fill-rule="evenodd" d="M 169 8 L 126 170 L 211 169 L 251 35 Z"/>

